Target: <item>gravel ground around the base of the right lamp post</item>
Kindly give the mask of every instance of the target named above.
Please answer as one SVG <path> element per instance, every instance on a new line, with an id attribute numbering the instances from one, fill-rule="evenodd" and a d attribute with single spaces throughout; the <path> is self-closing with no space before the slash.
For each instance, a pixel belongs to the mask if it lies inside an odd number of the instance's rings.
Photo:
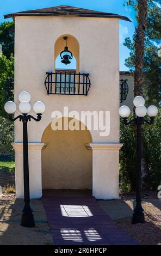
<path id="1" fill-rule="evenodd" d="M 161 245 L 161 200 L 154 194 L 145 194 L 142 203 L 146 222 L 131 224 L 133 200 L 134 194 L 126 194 L 121 200 L 99 200 L 99 203 L 118 227 L 125 230 L 140 245 Z"/>

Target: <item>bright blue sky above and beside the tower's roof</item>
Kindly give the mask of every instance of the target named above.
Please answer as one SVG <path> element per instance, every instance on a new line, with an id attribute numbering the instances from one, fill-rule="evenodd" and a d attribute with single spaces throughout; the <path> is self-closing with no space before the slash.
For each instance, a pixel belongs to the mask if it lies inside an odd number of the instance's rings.
<path id="1" fill-rule="evenodd" d="M 75 7 L 91 10 L 106 11 L 129 17 L 133 22 L 120 20 L 120 70 L 128 70 L 124 65 L 125 59 L 129 56 L 129 50 L 123 46 L 124 39 L 132 38 L 134 33 L 134 10 L 125 6 L 126 0 L 1 0 L 0 22 L 3 22 L 3 15 L 17 11 L 32 10 L 52 7 L 57 5 L 72 5 Z M 5 21 L 10 21 L 6 19 Z"/>

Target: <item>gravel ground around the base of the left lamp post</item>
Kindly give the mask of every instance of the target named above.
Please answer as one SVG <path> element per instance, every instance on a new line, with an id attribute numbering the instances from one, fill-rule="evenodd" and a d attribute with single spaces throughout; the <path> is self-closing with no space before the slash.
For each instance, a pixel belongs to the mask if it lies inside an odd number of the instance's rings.
<path id="1" fill-rule="evenodd" d="M 23 199 L 5 195 L 0 199 L 0 245 L 53 245 L 41 200 L 31 200 L 35 228 L 20 225 Z"/>

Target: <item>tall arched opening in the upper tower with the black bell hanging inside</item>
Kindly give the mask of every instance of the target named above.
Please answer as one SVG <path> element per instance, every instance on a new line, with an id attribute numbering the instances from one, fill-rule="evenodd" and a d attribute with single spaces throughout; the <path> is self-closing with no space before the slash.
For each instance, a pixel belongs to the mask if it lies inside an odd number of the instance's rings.
<path id="1" fill-rule="evenodd" d="M 79 43 L 72 35 L 62 35 L 55 42 L 55 72 L 57 93 L 76 93 L 79 72 Z"/>

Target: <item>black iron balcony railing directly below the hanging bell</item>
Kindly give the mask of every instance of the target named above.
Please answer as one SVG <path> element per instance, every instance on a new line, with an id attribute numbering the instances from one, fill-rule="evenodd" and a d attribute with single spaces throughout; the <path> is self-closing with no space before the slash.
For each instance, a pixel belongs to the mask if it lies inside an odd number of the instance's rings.
<path id="1" fill-rule="evenodd" d="M 88 95 L 91 83 L 89 74 L 80 72 L 46 72 L 47 94 Z"/>

